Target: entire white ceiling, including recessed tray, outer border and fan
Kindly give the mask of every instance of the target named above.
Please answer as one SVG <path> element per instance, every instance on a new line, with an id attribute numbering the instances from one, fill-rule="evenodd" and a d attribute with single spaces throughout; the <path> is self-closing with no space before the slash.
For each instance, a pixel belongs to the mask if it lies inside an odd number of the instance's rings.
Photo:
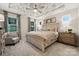
<path id="1" fill-rule="evenodd" d="M 0 9 L 22 15 L 40 17 L 60 8 L 72 8 L 78 4 L 65 3 L 0 3 Z M 36 9 L 36 10 L 35 10 Z"/>

